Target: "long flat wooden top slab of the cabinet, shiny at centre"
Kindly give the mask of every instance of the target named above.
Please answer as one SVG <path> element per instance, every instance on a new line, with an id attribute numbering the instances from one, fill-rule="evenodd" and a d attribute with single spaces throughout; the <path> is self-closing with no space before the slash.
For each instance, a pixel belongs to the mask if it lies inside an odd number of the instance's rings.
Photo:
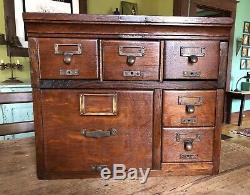
<path id="1" fill-rule="evenodd" d="M 229 17 L 180 17 L 180 16 L 131 16 L 131 15 L 88 15 L 88 14 L 55 14 L 24 13 L 25 22 L 71 22 L 71 23 L 137 23 L 151 25 L 219 25 L 231 26 Z"/>

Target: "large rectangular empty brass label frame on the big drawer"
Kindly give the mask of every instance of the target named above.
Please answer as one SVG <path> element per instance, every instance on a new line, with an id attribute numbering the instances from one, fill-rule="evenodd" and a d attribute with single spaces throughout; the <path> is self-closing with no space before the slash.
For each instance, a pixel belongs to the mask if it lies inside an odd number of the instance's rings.
<path id="1" fill-rule="evenodd" d="M 87 112 L 85 98 L 87 96 L 111 96 L 113 97 L 112 112 Z M 80 115 L 89 116 L 114 116 L 117 114 L 117 94 L 80 94 Z"/>

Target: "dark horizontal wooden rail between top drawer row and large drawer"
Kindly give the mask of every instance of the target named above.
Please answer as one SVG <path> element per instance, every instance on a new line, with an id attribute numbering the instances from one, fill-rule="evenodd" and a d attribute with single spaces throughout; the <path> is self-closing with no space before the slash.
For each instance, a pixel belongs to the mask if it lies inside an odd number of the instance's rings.
<path id="1" fill-rule="evenodd" d="M 86 81 L 81 80 L 41 80 L 41 88 L 70 89 L 70 88 L 123 88 L 123 89 L 216 89 L 217 81 Z"/>

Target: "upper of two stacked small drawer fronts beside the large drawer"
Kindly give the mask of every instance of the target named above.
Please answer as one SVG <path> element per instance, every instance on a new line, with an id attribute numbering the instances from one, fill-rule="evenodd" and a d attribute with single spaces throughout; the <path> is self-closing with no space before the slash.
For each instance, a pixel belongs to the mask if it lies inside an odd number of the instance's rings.
<path id="1" fill-rule="evenodd" d="M 164 91 L 164 127 L 214 126 L 216 91 Z"/>

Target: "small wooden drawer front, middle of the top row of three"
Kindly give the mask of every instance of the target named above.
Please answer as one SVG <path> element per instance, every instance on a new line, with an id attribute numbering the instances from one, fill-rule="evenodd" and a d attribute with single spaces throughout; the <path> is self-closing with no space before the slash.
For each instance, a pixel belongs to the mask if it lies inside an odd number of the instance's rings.
<path id="1" fill-rule="evenodd" d="M 104 80 L 159 80 L 160 43 L 102 41 Z"/>

